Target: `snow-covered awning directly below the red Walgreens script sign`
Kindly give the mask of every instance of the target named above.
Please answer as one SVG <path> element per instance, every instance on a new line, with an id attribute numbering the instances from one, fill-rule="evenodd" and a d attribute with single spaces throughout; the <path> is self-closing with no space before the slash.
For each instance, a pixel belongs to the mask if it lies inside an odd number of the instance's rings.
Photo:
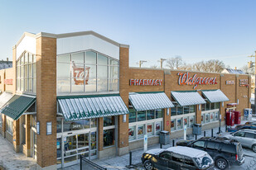
<path id="1" fill-rule="evenodd" d="M 205 104 L 205 99 L 198 92 L 171 92 L 171 96 L 180 106 Z"/>

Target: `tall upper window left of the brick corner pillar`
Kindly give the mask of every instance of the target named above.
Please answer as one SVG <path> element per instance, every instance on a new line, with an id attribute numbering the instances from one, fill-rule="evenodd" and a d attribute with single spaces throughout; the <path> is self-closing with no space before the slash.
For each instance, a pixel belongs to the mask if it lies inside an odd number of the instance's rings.
<path id="1" fill-rule="evenodd" d="M 25 52 L 17 59 L 17 91 L 36 92 L 36 55 Z"/>

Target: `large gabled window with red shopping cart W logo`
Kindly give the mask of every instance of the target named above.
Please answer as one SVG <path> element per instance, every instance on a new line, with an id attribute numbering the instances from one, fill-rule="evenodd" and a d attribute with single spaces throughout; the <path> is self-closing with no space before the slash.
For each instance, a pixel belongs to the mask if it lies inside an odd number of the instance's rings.
<path id="1" fill-rule="evenodd" d="M 57 91 L 118 92 L 118 60 L 85 51 L 57 56 Z"/>

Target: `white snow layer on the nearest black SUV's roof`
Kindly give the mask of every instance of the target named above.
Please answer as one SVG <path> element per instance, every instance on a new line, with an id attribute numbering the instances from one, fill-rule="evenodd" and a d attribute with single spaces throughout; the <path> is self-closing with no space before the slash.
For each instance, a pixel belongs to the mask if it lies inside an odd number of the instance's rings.
<path id="1" fill-rule="evenodd" d="M 202 151 L 199 149 L 192 149 L 186 146 L 170 147 L 167 150 L 173 153 L 180 153 L 180 154 L 189 156 L 191 158 L 197 158 L 200 155 L 205 154 L 205 151 Z"/>

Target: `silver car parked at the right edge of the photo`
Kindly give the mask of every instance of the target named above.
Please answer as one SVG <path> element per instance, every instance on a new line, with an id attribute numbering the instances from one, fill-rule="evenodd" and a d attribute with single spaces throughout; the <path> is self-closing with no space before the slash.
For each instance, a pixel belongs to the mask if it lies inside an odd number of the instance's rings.
<path id="1" fill-rule="evenodd" d="M 236 139 L 242 144 L 242 146 L 253 149 L 256 153 L 256 130 L 239 130 L 234 133 L 220 134 L 220 136 L 229 139 Z"/>

